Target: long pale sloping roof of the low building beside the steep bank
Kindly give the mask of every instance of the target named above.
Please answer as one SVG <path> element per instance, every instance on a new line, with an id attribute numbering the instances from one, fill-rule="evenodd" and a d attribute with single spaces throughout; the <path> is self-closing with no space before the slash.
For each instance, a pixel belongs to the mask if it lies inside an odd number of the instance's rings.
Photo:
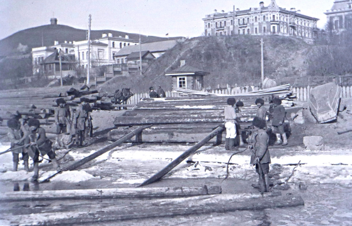
<path id="1" fill-rule="evenodd" d="M 139 48 L 141 48 L 142 51 L 150 51 L 151 53 L 165 52 L 166 50 L 174 47 L 177 44 L 177 42 L 178 40 L 167 40 L 167 41 L 142 43 L 141 46 L 128 45 L 122 48 L 114 56 L 117 56 L 117 57 L 128 56 L 132 52 L 139 52 Z"/>

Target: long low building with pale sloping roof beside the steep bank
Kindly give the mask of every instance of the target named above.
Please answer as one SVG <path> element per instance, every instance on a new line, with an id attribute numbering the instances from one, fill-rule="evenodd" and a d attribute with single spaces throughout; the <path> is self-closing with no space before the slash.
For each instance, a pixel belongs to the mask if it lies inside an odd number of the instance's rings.
<path id="1" fill-rule="evenodd" d="M 174 47 L 181 40 L 167 40 L 167 41 L 158 41 L 158 42 L 150 42 L 150 43 L 142 43 L 139 45 L 130 45 L 122 48 L 119 52 L 114 55 L 115 64 L 125 64 L 127 63 L 127 57 L 132 52 L 139 51 L 149 51 L 155 58 L 159 58 L 163 53 L 167 50 Z"/>

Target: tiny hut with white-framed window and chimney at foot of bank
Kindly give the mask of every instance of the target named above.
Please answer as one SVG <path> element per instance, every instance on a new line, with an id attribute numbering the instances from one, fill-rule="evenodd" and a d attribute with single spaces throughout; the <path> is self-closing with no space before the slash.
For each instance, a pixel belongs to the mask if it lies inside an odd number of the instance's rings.
<path id="1" fill-rule="evenodd" d="M 179 68 L 165 73 L 166 76 L 172 77 L 172 90 L 188 89 L 188 90 L 202 90 L 203 76 L 209 74 L 193 66 L 185 65 L 185 61 L 180 62 Z"/>

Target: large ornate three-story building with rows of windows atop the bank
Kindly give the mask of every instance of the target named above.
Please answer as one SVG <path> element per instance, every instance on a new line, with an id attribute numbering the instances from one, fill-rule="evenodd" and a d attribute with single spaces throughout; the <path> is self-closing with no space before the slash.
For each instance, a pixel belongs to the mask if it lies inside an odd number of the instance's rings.
<path id="1" fill-rule="evenodd" d="M 312 42 L 317 36 L 318 18 L 306 16 L 300 10 L 281 8 L 275 0 L 271 0 L 268 6 L 259 2 L 258 7 L 246 10 L 236 9 L 227 13 L 224 10 L 219 13 L 206 15 L 204 21 L 204 34 L 210 35 L 233 35 L 254 34 L 269 35 L 278 34 L 284 36 L 299 36 L 307 42 Z"/>

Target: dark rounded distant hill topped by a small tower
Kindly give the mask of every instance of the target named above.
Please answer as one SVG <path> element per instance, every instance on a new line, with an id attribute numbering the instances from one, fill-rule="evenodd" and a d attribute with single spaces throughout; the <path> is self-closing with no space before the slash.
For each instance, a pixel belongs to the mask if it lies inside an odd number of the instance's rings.
<path id="1" fill-rule="evenodd" d="M 139 40 L 139 34 L 119 32 L 112 30 L 92 31 L 92 39 L 101 37 L 102 33 L 112 33 L 113 36 L 123 36 L 128 34 L 129 38 Z M 35 28 L 16 32 L 0 40 L 0 56 L 8 56 L 16 53 L 28 53 L 33 47 L 54 45 L 54 41 L 60 43 L 66 41 L 80 41 L 86 39 L 86 30 L 75 29 L 65 25 L 43 25 Z M 162 41 L 167 38 L 141 35 L 142 42 Z"/>

